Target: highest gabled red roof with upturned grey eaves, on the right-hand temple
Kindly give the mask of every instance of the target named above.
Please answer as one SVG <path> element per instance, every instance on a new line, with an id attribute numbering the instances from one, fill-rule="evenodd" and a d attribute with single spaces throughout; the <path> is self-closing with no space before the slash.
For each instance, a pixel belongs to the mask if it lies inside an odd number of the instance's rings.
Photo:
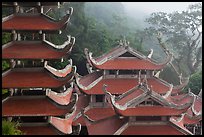
<path id="1" fill-rule="evenodd" d="M 92 57 L 93 53 L 88 52 L 88 49 L 85 49 L 84 52 L 85 52 L 85 55 L 87 57 L 88 63 L 91 66 L 95 66 L 96 68 L 99 68 L 99 69 L 130 69 L 130 68 L 126 68 L 125 66 L 130 67 L 133 64 L 137 64 L 134 66 L 134 69 L 142 69 L 140 67 L 146 66 L 146 69 L 155 70 L 155 69 L 161 69 L 162 67 L 164 67 L 164 65 L 166 65 L 167 63 L 169 63 L 172 60 L 172 54 L 168 53 L 167 58 L 164 62 L 157 63 L 154 60 L 149 59 L 148 57 L 146 57 L 144 55 L 141 56 L 140 54 L 138 54 L 136 51 L 134 51 L 129 46 L 127 46 L 127 47 L 128 48 L 124 48 L 123 46 L 120 46 L 120 47 L 116 48 L 115 51 L 111 51 L 111 52 L 103 55 L 101 58 L 93 58 Z M 136 58 L 130 59 L 130 58 L 119 57 L 120 55 L 124 54 L 125 52 L 130 52 L 131 54 L 136 56 Z M 140 59 L 138 59 L 138 58 L 140 58 Z M 126 65 L 120 66 L 120 65 L 118 65 L 118 62 L 124 62 L 124 63 L 126 63 Z M 129 66 L 127 65 L 128 62 L 129 62 Z M 143 64 L 143 65 L 138 65 L 138 64 Z M 133 69 L 133 67 L 131 69 Z"/>

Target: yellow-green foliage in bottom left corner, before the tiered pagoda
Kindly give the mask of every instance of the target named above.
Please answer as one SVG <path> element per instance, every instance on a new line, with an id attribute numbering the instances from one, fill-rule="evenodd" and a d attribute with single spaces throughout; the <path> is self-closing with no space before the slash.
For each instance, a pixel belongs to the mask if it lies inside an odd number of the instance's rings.
<path id="1" fill-rule="evenodd" d="M 2 135 L 22 135 L 18 129 L 19 123 L 2 120 Z"/>

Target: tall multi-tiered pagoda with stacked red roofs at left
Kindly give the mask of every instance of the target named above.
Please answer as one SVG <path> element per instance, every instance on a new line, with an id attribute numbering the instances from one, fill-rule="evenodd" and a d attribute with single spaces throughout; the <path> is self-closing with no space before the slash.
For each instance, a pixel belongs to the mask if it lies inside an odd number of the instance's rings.
<path id="1" fill-rule="evenodd" d="M 81 125 L 72 125 L 78 95 L 73 78 L 76 67 L 69 54 L 75 38 L 67 36 L 62 45 L 48 41 L 49 34 L 66 28 L 73 8 L 61 20 L 47 13 L 61 2 L 3 2 L 13 14 L 2 19 L 2 31 L 12 33 L 12 41 L 2 46 L 2 59 L 11 68 L 2 73 L 2 88 L 10 96 L 2 100 L 2 117 L 18 121 L 26 135 L 79 134 Z M 31 37 L 31 39 L 29 39 Z M 62 69 L 52 61 L 69 60 Z"/>

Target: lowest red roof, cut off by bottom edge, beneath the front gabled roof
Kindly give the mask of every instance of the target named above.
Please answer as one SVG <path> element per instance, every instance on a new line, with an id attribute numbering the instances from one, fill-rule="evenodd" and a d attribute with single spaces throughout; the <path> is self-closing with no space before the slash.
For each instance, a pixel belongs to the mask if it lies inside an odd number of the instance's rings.
<path id="1" fill-rule="evenodd" d="M 83 112 L 83 111 L 82 111 Z M 96 111 L 95 115 L 104 113 Z M 93 121 L 90 115 L 83 113 L 89 135 L 183 135 L 191 134 L 184 127 L 166 122 L 129 122 L 127 117 L 109 116 L 103 120 Z M 114 123 L 114 124 L 113 124 Z"/>

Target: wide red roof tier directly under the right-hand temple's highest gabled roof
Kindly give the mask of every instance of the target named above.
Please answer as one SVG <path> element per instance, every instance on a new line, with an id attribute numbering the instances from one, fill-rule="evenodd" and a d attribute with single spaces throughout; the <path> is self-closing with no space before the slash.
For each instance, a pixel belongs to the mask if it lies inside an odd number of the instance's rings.
<path id="1" fill-rule="evenodd" d="M 101 74 L 99 75 L 98 72 L 95 72 L 81 77 L 78 82 L 84 87 L 87 87 L 100 76 Z M 152 90 L 157 93 L 165 94 L 169 90 L 170 86 L 166 85 L 159 79 L 147 78 L 147 81 L 149 86 L 152 85 Z M 122 94 L 132 89 L 133 87 L 136 87 L 138 85 L 138 78 L 102 78 L 102 80 L 100 80 L 96 85 L 88 90 L 83 89 L 80 86 L 79 87 L 87 94 L 104 94 L 104 92 L 102 91 L 102 87 L 104 84 L 108 86 L 107 90 L 112 94 Z M 177 92 L 177 90 L 175 91 Z M 172 92 L 174 93 L 174 90 Z"/>

